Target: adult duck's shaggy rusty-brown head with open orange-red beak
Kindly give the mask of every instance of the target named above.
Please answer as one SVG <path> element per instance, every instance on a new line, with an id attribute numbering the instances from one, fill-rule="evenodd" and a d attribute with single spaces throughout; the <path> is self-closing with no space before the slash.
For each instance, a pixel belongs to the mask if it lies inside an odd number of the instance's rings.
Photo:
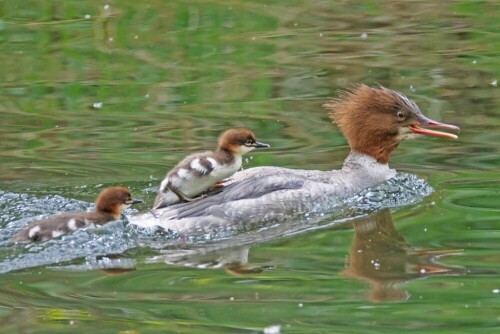
<path id="1" fill-rule="evenodd" d="M 459 132 L 455 125 L 425 117 L 415 102 L 403 94 L 380 86 L 355 86 L 341 91 L 339 98 L 325 104 L 352 150 L 370 155 L 386 164 L 399 142 L 414 134 L 456 139 L 454 134 L 423 129 L 420 126 Z"/>

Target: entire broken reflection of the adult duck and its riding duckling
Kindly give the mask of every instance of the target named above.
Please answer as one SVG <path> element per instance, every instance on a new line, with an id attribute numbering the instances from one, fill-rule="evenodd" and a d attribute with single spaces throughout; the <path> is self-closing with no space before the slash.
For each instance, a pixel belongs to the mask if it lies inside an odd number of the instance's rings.
<path id="1" fill-rule="evenodd" d="M 412 279 L 442 275 L 464 275 L 465 268 L 441 264 L 439 258 L 455 255 L 457 250 L 417 250 L 408 245 L 394 228 L 389 209 L 355 219 L 354 237 L 351 242 L 346 267 L 340 275 L 368 282 L 370 301 L 396 301 L 407 298 L 401 284 Z M 282 224 L 286 225 L 286 224 Z M 309 225 L 309 222 L 303 223 Z M 338 222 L 320 228 L 337 227 Z M 291 231 L 292 235 L 308 238 L 315 232 L 304 229 Z M 333 229 L 331 233 L 335 233 Z M 192 245 L 186 249 L 169 248 L 164 254 L 148 262 L 165 262 L 200 269 L 225 269 L 232 275 L 255 275 L 270 268 L 250 261 L 250 248 L 262 242 L 272 242 L 284 235 L 282 229 L 249 232 L 244 239 L 227 239 L 208 245 Z M 312 238 L 314 239 L 314 238 Z"/>

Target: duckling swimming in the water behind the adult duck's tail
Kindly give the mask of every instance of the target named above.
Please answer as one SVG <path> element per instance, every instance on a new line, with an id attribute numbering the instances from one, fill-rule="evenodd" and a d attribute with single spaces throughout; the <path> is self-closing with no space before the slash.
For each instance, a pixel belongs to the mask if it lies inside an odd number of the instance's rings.
<path id="1" fill-rule="evenodd" d="M 92 224 L 102 225 L 117 220 L 123 209 L 142 203 L 134 199 L 127 188 L 109 187 L 101 191 L 95 201 L 94 212 L 66 212 L 34 221 L 12 237 L 14 242 L 43 241 L 57 238 Z"/>

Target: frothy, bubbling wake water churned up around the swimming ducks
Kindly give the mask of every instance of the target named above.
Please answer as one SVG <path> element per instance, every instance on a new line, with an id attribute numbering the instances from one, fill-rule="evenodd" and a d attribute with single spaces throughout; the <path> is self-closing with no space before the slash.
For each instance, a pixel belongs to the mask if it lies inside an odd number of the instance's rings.
<path id="1" fill-rule="evenodd" d="M 90 189 L 93 189 L 90 187 Z M 143 187 L 142 191 L 149 191 Z M 108 254 L 120 254 L 126 250 L 143 247 L 165 249 L 184 245 L 198 247 L 207 242 L 226 240 L 228 245 L 262 242 L 266 238 L 278 238 L 359 217 L 384 207 L 401 207 L 421 201 L 432 193 L 432 188 L 415 175 L 399 173 L 393 179 L 367 189 L 345 201 L 329 206 L 318 206 L 307 214 L 283 223 L 266 222 L 242 230 L 220 234 L 217 231 L 203 236 L 182 236 L 157 229 L 141 229 L 116 221 L 97 228 L 85 228 L 71 235 L 42 243 L 12 245 L 9 238 L 31 219 L 33 214 L 52 214 L 56 211 L 85 210 L 90 203 L 65 199 L 61 196 L 36 198 L 28 194 L 0 192 L 2 211 L 7 224 L 0 242 L 0 273 L 24 268 L 70 264 L 68 270 L 122 269 L 131 270 L 135 260 L 112 259 Z M 134 210 L 126 213 L 135 212 Z M 17 217 L 17 219 L 15 219 Z M 183 250 L 184 252 L 186 249 Z M 83 259 L 83 262 L 79 259 Z M 76 262 L 75 262 L 76 261 Z M 73 263 L 71 263 L 73 262 Z"/>

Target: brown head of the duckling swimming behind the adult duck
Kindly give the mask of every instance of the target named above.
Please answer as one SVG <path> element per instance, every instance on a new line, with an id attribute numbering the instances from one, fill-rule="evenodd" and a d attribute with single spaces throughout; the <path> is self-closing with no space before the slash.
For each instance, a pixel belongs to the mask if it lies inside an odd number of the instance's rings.
<path id="1" fill-rule="evenodd" d="M 103 189 L 97 197 L 95 211 L 110 213 L 115 219 L 119 219 L 123 209 L 137 203 L 142 203 L 142 200 L 132 198 L 127 188 L 109 187 Z"/>

